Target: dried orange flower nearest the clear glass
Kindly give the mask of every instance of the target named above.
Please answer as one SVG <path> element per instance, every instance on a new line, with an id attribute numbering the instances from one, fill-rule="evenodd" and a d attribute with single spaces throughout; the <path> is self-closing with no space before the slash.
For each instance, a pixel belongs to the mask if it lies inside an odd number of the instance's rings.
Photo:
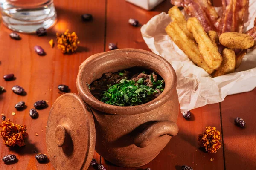
<path id="1" fill-rule="evenodd" d="M 57 47 L 61 49 L 63 53 L 72 53 L 76 51 L 77 44 L 80 43 L 76 32 L 72 32 L 72 34 L 70 34 L 67 29 L 63 34 L 56 33 L 56 36 L 58 43 Z"/>

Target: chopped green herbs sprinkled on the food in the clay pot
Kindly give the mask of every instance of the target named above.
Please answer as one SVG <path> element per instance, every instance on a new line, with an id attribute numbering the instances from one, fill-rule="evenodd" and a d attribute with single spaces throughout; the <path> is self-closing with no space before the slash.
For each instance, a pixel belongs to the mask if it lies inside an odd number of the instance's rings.
<path id="1" fill-rule="evenodd" d="M 122 79 L 119 84 L 108 86 L 109 89 L 102 94 L 101 101 L 116 106 L 135 106 L 153 100 L 157 91 L 142 84 L 143 78 L 139 81 L 135 85 L 133 80 Z"/>

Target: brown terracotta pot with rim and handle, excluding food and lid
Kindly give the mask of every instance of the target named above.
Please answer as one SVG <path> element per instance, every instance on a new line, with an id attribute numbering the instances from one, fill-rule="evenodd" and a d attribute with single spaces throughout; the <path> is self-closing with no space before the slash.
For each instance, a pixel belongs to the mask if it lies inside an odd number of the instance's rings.
<path id="1" fill-rule="evenodd" d="M 153 101 L 120 107 L 105 104 L 90 93 L 88 84 L 102 74 L 135 66 L 157 72 L 164 79 L 164 91 Z M 177 78 L 169 62 L 159 55 L 140 49 L 117 49 L 93 55 L 81 64 L 76 83 L 79 95 L 92 107 L 96 127 L 95 150 L 111 163 L 121 167 L 140 167 L 163 150 L 170 136 L 177 135 Z"/>

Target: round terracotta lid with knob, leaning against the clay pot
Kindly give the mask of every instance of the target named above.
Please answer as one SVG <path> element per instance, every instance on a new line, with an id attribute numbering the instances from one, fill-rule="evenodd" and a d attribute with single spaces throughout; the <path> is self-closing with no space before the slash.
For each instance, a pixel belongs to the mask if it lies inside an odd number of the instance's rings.
<path id="1" fill-rule="evenodd" d="M 61 95 L 52 105 L 46 128 L 50 162 L 56 170 L 87 170 L 95 149 L 93 114 L 74 93 Z"/>

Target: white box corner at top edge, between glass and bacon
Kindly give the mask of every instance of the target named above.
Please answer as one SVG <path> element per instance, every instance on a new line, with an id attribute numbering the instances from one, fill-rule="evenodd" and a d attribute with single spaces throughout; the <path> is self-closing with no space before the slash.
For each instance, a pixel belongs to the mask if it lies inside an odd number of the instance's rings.
<path id="1" fill-rule="evenodd" d="M 151 10 L 156 7 L 158 4 L 163 2 L 164 0 L 126 0 L 129 3 L 132 3 L 140 8 Z"/>

